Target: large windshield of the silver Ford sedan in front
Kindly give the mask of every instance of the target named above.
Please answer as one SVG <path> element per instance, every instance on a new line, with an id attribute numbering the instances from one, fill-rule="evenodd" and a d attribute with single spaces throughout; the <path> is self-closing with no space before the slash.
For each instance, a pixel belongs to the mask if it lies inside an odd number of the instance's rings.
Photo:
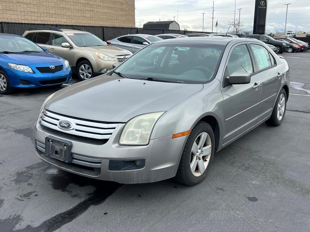
<path id="1" fill-rule="evenodd" d="M 140 50 L 116 68 L 133 79 L 198 84 L 215 76 L 224 45 L 160 43 Z"/>

